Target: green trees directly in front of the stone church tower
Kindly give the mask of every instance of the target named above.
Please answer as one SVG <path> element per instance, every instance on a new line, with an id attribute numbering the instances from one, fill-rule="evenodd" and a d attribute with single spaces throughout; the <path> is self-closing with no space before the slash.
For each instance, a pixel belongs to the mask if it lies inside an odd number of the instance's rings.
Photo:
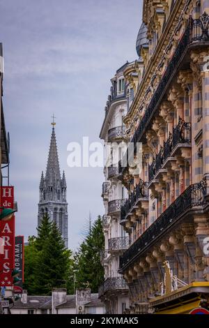
<path id="1" fill-rule="evenodd" d="M 31 295 L 50 295 L 52 288 L 72 289 L 73 281 L 68 281 L 72 271 L 72 252 L 65 248 L 56 223 L 49 216 L 42 218 L 38 237 L 29 239 L 25 248 L 24 288 Z"/>

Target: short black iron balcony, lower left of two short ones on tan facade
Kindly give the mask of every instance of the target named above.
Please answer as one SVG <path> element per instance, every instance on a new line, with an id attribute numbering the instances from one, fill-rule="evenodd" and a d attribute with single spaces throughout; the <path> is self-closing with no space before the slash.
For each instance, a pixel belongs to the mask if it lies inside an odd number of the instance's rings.
<path id="1" fill-rule="evenodd" d="M 140 198 L 148 198 L 148 183 L 144 182 L 142 179 L 139 180 L 134 191 L 129 195 L 125 204 L 121 207 L 121 221 L 125 220 L 125 217 L 130 212 L 132 207 L 140 200 Z"/>

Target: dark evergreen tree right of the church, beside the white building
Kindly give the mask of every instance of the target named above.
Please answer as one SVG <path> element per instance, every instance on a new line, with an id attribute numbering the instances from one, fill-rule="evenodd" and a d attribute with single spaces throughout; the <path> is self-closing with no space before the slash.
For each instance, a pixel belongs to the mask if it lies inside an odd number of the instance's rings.
<path id="1" fill-rule="evenodd" d="M 98 288 L 104 280 L 104 269 L 100 262 L 100 252 L 103 249 L 102 219 L 98 216 L 76 254 L 77 287 L 89 287 L 92 292 L 98 292 Z"/>

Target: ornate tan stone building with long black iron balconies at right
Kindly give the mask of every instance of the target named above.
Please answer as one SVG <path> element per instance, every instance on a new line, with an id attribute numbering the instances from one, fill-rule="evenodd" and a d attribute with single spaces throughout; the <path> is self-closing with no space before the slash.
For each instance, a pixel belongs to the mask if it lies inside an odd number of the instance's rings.
<path id="1" fill-rule="evenodd" d="M 121 225 L 130 246 L 118 270 L 130 290 L 126 313 L 209 305 L 208 14 L 207 0 L 144 0 L 144 71 L 125 68 L 133 89 L 125 138 L 134 143 L 134 163 L 126 153 L 117 175 L 128 193 Z"/>

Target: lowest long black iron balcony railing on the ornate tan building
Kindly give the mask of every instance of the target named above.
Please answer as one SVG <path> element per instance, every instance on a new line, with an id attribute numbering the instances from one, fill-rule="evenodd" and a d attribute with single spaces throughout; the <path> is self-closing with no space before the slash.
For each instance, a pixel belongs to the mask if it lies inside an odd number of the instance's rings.
<path id="1" fill-rule="evenodd" d="M 150 225 L 144 234 L 123 253 L 120 258 L 120 272 L 135 258 L 143 255 L 147 248 L 156 243 L 162 234 L 180 220 L 193 207 L 206 204 L 206 181 L 189 186 L 176 200 Z"/>

